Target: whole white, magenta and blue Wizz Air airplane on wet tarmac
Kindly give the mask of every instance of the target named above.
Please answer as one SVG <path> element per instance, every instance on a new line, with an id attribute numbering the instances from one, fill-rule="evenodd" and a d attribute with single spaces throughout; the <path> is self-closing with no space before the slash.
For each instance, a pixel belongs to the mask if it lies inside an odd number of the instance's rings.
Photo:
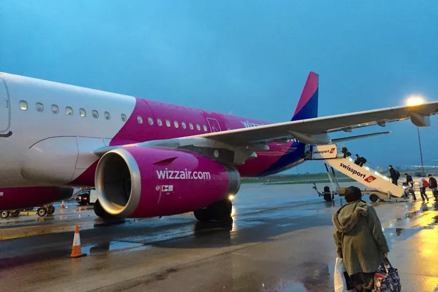
<path id="1" fill-rule="evenodd" d="M 231 219 L 240 178 L 302 164 L 329 134 L 410 119 L 429 127 L 438 102 L 318 117 L 310 72 L 291 121 L 268 123 L 119 93 L 0 73 L 0 210 L 33 207 L 94 187 L 98 217 L 194 212 Z"/>

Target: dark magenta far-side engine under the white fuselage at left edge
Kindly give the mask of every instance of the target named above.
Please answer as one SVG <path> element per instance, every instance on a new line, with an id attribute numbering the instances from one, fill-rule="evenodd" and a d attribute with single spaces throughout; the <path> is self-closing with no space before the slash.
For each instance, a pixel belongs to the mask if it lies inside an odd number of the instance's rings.
<path id="1" fill-rule="evenodd" d="M 0 188 L 0 211 L 26 209 L 70 199 L 73 188 L 30 186 Z"/>

